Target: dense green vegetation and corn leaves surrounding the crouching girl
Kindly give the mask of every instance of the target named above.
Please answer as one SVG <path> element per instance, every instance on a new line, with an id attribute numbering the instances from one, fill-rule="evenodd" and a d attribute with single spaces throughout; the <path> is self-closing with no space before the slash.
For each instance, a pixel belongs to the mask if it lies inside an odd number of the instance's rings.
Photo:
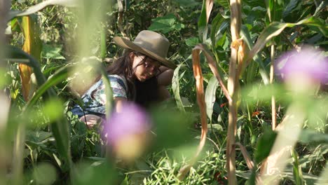
<path id="1" fill-rule="evenodd" d="M 261 184 L 259 178 L 266 178 L 261 168 L 277 135 L 275 125 L 294 115 L 301 119 L 301 133 L 289 133 L 297 142 L 276 179 L 280 184 L 327 183 L 327 84 L 313 87 L 310 97 L 298 97 L 273 71 L 280 55 L 306 45 L 320 48 L 327 57 L 327 2 L 231 2 L 4 1 L 8 6 L 3 8 L 10 6 L 11 11 L 4 9 L 1 18 L 6 22 L 1 31 L 6 30 L 1 43 L 0 180 Z M 238 20 L 235 27 L 233 19 Z M 79 102 L 74 85 L 93 79 L 81 79 L 81 74 L 104 75 L 104 65 L 121 53 L 114 36 L 134 39 L 143 29 L 160 32 L 171 42 L 168 56 L 178 65 L 170 87 L 174 98 L 149 110 L 156 139 L 144 156 L 133 163 L 111 161 L 101 126 L 88 129 L 69 111 Z M 235 52 L 239 55 L 233 68 Z M 201 90 L 195 85 L 195 69 L 202 71 L 203 105 L 197 102 Z M 233 76 L 233 83 L 228 82 Z M 295 104 L 305 113 L 293 111 Z M 203 151 L 192 164 L 203 138 Z M 180 169 L 186 164 L 192 167 L 183 177 Z"/>

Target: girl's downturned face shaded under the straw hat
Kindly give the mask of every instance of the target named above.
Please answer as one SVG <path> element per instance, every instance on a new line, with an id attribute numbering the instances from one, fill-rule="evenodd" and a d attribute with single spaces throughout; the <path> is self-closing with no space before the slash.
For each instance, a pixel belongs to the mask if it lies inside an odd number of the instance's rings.
<path id="1" fill-rule="evenodd" d="M 136 55 L 132 53 L 132 69 L 135 70 L 135 77 L 139 81 L 146 81 L 155 76 L 160 67 L 160 62 L 153 60 L 151 57 L 145 55 Z"/>

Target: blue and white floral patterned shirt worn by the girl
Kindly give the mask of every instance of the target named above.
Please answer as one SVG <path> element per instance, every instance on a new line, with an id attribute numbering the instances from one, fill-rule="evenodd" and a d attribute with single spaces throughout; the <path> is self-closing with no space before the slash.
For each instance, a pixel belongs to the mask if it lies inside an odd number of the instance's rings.
<path id="1" fill-rule="evenodd" d="M 111 89 L 113 90 L 113 97 L 125 97 L 128 99 L 128 84 L 126 83 L 126 79 L 116 74 L 109 74 L 108 78 L 111 83 Z M 83 107 L 76 104 L 71 109 L 73 114 L 78 115 L 78 117 L 86 114 L 105 115 L 106 94 L 102 79 L 91 86 L 81 98 Z"/>

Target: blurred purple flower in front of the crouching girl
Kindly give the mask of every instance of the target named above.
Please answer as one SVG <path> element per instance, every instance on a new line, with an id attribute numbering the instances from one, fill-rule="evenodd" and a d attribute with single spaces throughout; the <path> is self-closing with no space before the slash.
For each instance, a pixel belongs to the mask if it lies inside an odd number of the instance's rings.
<path id="1" fill-rule="evenodd" d="M 136 104 L 125 103 L 121 112 L 114 112 L 105 122 L 104 134 L 116 156 L 132 160 L 144 150 L 150 129 L 151 119 L 146 111 Z"/>

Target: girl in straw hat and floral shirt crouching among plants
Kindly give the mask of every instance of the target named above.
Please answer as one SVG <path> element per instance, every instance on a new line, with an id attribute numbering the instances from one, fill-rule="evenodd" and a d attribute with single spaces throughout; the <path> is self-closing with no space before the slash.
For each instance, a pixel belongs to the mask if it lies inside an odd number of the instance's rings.
<path id="1" fill-rule="evenodd" d="M 123 48 L 123 56 L 107 68 L 113 90 L 115 110 L 121 111 L 125 101 L 133 101 L 143 107 L 170 97 L 165 86 L 170 85 L 175 64 L 166 59 L 170 43 L 164 36 L 144 30 L 135 41 L 119 36 L 114 42 Z M 81 121 L 93 126 L 104 118 L 106 95 L 101 77 L 81 97 L 83 107 L 76 105 L 71 111 Z"/>

